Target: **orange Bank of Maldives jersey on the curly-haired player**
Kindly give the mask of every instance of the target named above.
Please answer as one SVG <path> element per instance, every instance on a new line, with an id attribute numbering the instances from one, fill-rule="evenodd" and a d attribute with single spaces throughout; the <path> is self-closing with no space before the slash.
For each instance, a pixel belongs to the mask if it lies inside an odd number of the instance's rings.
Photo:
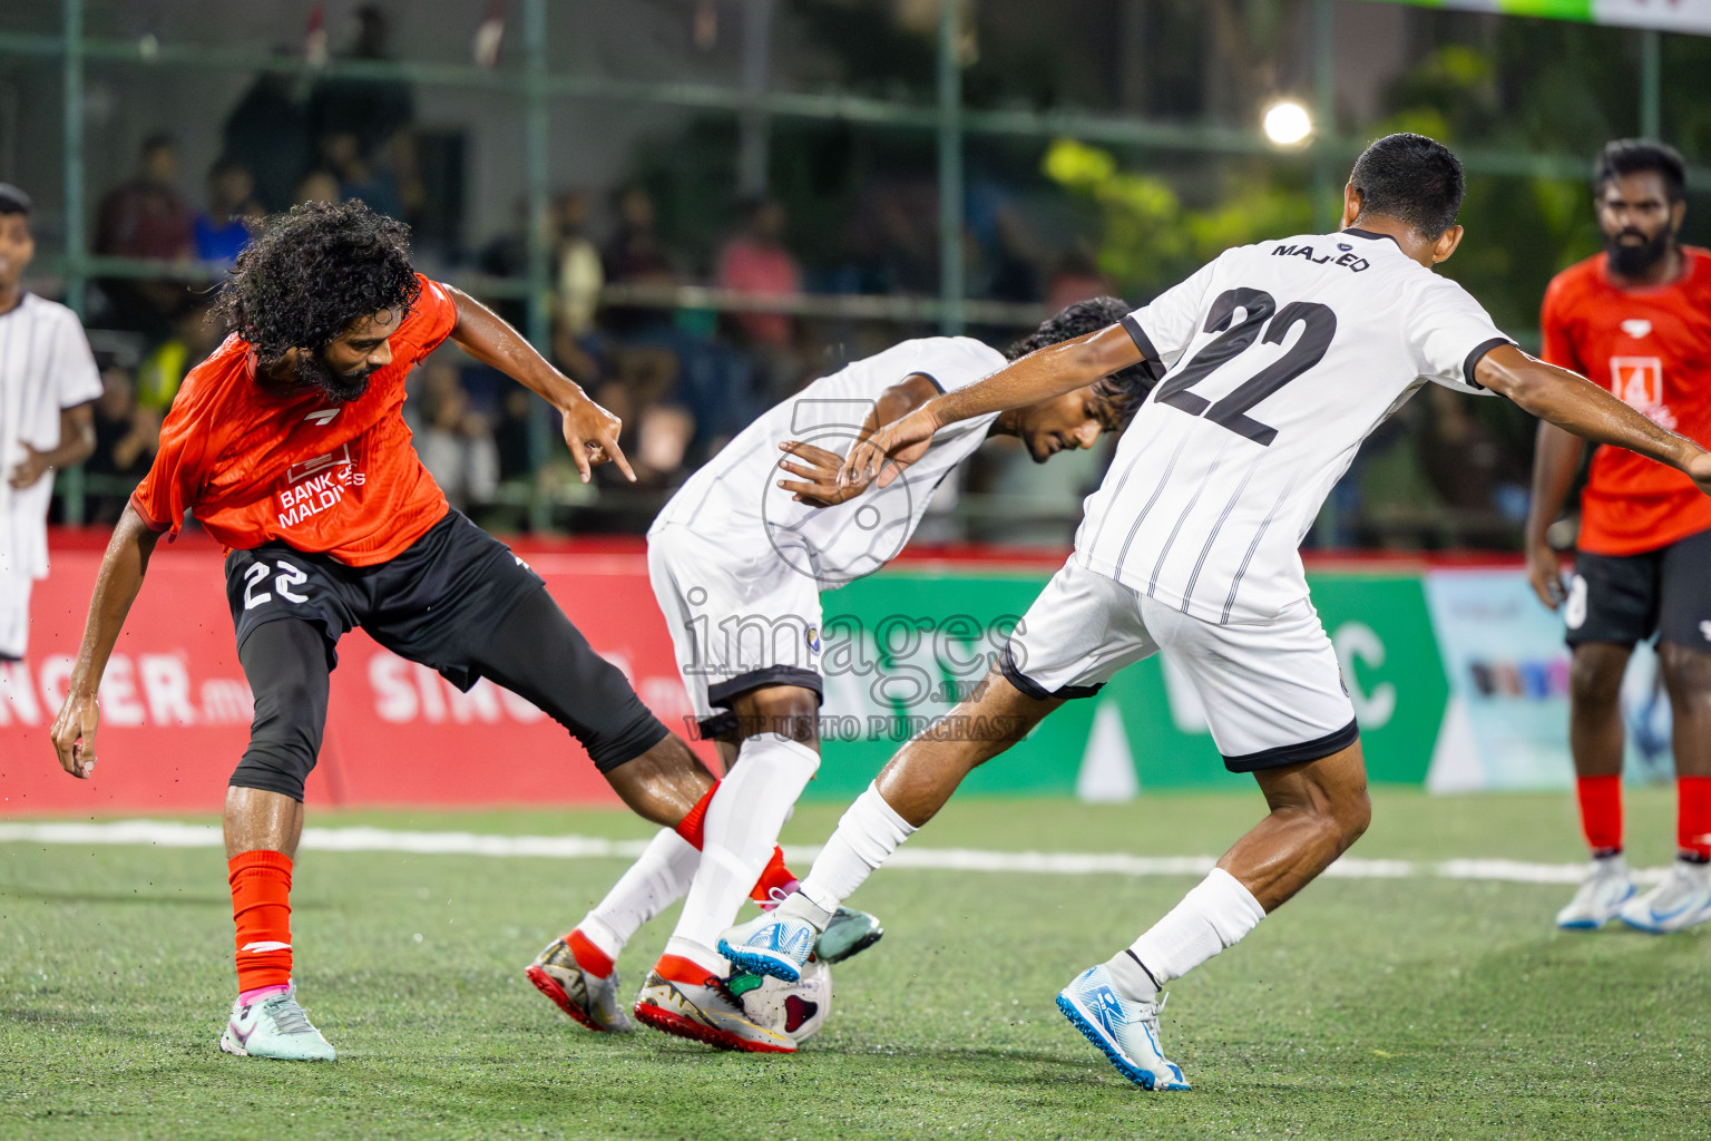
<path id="1" fill-rule="evenodd" d="M 417 275 L 421 296 L 388 337 L 392 363 L 339 404 L 318 388 L 277 393 L 255 380 L 236 334 L 185 376 L 161 424 L 154 467 L 132 505 L 178 534 L 192 511 L 228 547 L 286 542 L 349 566 L 395 558 L 448 505 L 416 458 L 404 424 L 404 378 L 457 325 L 452 296 Z"/>

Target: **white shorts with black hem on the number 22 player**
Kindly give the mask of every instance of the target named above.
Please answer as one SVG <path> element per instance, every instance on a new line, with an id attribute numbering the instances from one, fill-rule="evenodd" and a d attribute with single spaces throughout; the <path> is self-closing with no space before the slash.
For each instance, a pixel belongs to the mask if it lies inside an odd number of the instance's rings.
<path id="1" fill-rule="evenodd" d="M 1030 698 L 1086 698 L 1158 650 L 1199 695 L 1232 773 L 1317 761 L 1360 736 L 1336 652 L 1305 599 L 1273 623 L 1218 626 L 1068 563 L 1009 636 L 999 669 Z"/>

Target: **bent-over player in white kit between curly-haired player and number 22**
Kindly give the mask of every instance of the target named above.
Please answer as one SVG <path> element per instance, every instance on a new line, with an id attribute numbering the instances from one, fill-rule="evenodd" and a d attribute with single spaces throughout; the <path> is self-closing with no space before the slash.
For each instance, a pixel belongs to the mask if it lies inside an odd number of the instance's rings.
<path id="1" fill-rule="evenodd" d="M 900 476 L 859 503 L 847 501 L 866 481 L 838 486 L 844 455 L 876 426 L 974 385 L 1006 359 L 1097 332 L 1126 311 L 1112 298 L 1080 301 L 1008 354 L 968 337 L 924 337 L 856 361 L 756 419 L 660 510 L 648 530 L 648 576 L 725 778 L 530 965 L 530 982 L 566 1014 L 590 1030 L 631 1028 L 614 961 L 643 922 L 688 891 L 636 1018 L 725 1049 L 796 1049 L 789 1025 L 780 1033 L 749 1018 L 741 994 L 760 977 L 732 977 L 713 943 L 751 893 L 773 905 L 797 883 L 775 845 L 820 766 L 820 592 L 902 551 L 932 493 L 989 435 L 1020 436 L 1040 464 L 1090 448 L 1128 423 L 1155 373 L 1131 361 L 1040 400 L 970 416 L 922 438 Z M 838 961 L 878 937 L 871 915 L 833 907 L 818 932 L 802 934 L 799 958 L 818 949 Z"/>

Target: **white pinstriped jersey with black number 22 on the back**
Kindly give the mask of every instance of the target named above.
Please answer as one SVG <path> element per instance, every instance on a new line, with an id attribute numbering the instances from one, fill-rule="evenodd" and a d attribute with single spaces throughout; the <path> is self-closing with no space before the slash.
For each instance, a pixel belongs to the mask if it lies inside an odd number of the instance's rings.
<path id="1" fill-rule="evenodd" d="M 1300 541 L 1367 435 L 1425 381 L 1478 390 L 1509 337 L 1394 239 L 1225 251 L 1124 318 L 1167 366 L 1088 496 L 1075 559 L 1210 623 L 1307 597 Z"/>

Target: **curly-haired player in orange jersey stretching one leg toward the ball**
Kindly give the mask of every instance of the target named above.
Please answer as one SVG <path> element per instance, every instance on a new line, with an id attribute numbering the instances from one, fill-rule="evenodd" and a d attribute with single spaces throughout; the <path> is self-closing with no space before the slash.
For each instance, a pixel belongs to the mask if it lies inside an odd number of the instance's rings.
<path id="1" fill-rule="evenodd" d="M 226 597 L 255 691 L 226 792 L 240 990 L 221 1035 L 229 1054 L 334 1057 L 291 985 L 291 867 L 347 630 L 464 689 L 491 677 L 529 698 L 650 821 L 679 826 L 713 787 L 541 578 L 450 510 L 416 458 L 404 378 L 452 339 L 559 411 L 583 479 L 606 462 L 630 476 L 618 419 L 477 301 L 417 275 L 406 236 L 361 202 L 308 204 L 269 219 L 240 255 L 219 301 L 233 332 L 185 378 L 113 532 L 53 722 L 60 763 L 87 778 L 101 672 L 156 542 L 193 513 L 229 547 Z"/>

